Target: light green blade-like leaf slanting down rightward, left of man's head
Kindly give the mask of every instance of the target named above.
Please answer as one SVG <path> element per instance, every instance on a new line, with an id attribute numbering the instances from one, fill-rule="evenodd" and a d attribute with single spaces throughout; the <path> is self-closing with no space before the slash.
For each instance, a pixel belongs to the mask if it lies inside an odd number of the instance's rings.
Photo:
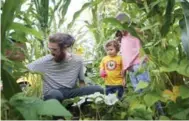
<path id="1" fill-rule="evenodd" d="M 34 35 L 35 37 L 37 37 L 40 40 L 43 39 L 42 33 L 40 31 L 36 31 L 35 29 L 28 28 L 28 27 L 24 26 L 23 24 L 12 23 L 11 28 L 14 29 L 14 30 L 17 30 L 17 31 L 22 30 L 26 34 Z"/>

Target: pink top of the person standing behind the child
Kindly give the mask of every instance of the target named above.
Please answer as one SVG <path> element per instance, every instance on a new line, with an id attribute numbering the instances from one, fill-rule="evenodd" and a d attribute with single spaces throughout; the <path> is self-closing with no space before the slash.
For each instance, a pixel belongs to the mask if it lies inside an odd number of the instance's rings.
<path id="1" fill-rule="evenodd" d="M 140 40 L 131 34 L 122 37 L 121 40 L 121 55 L 123 60 L 123 69 L 127 70 L 134 64 L 139 64 Z"/>

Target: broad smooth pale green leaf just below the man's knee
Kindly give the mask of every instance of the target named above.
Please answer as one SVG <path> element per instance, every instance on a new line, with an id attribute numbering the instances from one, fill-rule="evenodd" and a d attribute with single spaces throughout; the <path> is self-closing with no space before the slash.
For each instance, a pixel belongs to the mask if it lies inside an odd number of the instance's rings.
<path id="1" fill-rule="evenodd" d="M 40 115 L 64 116 L 66 119 L 72 117 L 72 114 L 55 99 L 45 101 L 38 112 Z"/>

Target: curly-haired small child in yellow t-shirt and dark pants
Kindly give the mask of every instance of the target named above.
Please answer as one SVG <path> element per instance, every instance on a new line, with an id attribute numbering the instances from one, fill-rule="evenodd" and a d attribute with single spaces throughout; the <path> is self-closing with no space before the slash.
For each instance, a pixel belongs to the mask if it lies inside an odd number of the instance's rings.
<path id="1" fill-rule="evenodd" d="M 117 40 L 108 41 L 105 45 L 105 56 L 100 63 L 100 76 L 104 78 L 106 94 L 118 92 L 118 98 L 123 96 L 125 78 L 122 76 L 122 59 L 119 52 L 120 45 Z"/>

